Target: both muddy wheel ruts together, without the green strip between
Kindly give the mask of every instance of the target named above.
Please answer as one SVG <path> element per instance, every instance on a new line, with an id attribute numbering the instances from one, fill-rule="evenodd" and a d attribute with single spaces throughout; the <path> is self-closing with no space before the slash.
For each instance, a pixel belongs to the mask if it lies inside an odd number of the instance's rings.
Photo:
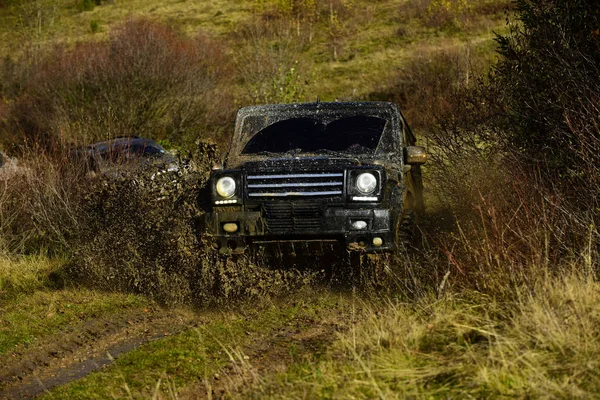
<path id="1" fill-rule="evenodd" d="M 234 336 L 230 341 L 219 342 L 219 348 L 210 356 L 224 357 L 226 360 L 222 367 L 208 376 L 198 376 L 195 381 L 187 382 L 178 388 L 177 397 L 243 396 L 259 385 L 265 376 L 284 372 L 294 363 L 324 354 L 335 340 L 336 332 L 347 329 L 345 322 L 349 320 L 349 314 L 345 306 L 336 303 L 331 308 L 323 308 L 324 314 L 319 318 L 302 313 L 285 317 L 295 307 L 294 302 L 282 303 L 281 310 L 277 307 L 275 311 L 278 315 L 276 321 L 269 322 L 271 326 L 267 329 L 249 328 L 242 337 Z M 306 310 L 308 313 L 313 311 L 310 305 L 306 306 Z M 236 318 L 238 321 L 250 321 L 257 315 L 243 312 Z M 54 395 L 53 388 L 109 367 L 120 356 L 148 342 L 185 332 L 209 337 L 211 334 L 206 327 L 210 324 L 225 324 L 226 329 L 230 329 L 230 324 L 235 322 L 227 313 L 154 309 L 143 315 L 134 311 L 82 323 L 70 333 L 53 337 L 54 340 L 3 356 L 0 360 L 3 365 L 0 369 L 0 382 L 3 382 L 0 398 L 33 398 L 45 393 Z M 164 362 L 168 364 L 169 361 Z"/>

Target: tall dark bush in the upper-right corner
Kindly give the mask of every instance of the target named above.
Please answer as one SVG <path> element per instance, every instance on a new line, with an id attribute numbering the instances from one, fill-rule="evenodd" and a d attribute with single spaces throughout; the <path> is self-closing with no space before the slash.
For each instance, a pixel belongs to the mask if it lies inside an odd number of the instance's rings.
<path id="1" fill-rule="evenodd" d="M 600 9 L 593 0 L 518 0 L 498 37 L 501 138 L 571 197 L 596 201 L 600 140 Z M 582 196 L 582 194 L 584 196 Z M 573 196 L 574 195 L 574 196 Z"/>

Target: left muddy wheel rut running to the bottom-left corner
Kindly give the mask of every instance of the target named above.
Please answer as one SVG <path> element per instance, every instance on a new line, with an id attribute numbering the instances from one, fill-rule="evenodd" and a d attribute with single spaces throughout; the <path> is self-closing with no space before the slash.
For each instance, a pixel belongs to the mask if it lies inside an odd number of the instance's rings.
<path id="1" fill-rule="evenodd" d="M 83 322 L 0 358 L 0 398 L 30 398 L 80 379 L 151 340 L 198 322 L 192 313 L 145 309 Z"/>

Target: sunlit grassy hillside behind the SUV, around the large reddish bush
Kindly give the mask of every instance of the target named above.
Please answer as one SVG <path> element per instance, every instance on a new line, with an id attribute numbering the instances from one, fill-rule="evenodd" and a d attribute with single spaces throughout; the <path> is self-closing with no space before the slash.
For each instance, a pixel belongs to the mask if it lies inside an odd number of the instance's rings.
<path id="1" fill-rule="evenodd" d="M 52 65 L 57 63 L 54 57 L 62 57 L 54 53 L 55 46 L 69 49 L 85 42 L 104 42 L 118 36 L 123 24 L 136 18 L 164 23 L 188 37 L 210 38 L 214 48 L 224 53 L 218 60 L 221 77 L 217 84 L 221 96 L 227 93 L 229 97 L 211 106 L 220 113 L 214 121 L 195 126 L 179 137 L 168 137 L 179 145 L 189 145 L 195 140 L 192 136 L 214 138 L 215 127 L 219 132 L 229 130 L 239 106 L 318 98 L 397 101 L 415 127 L 426 127 L 429 118 L 424 114 L 442 95 L 436 93 L 440 91 L 439 82 L 468 84 L 473 73 L 485 71 L 494 60 L 492 39 L 494 32 L 506 30 L 507 7 L 504 0 L 97 3 L 8 1 L 0 8 L 0 55 L 17 65 L 33 64 L 31 70 L 17 70 L 35 74 L 37 63 Z M 83 51 L 80 47 L 76 53 Z M 214 57 L 212 50 L 200 51 L 207 52 L 208 59 Z M 5 97 L 9 102 L 23 79 L 11 75 L 15 69 L 11 65 L 4 63 L 4 81 L 9 86 Z M 424 75 L 419 76 L 418 70 L 425 70 Z M 16 83 L 11 86 L 14 79 Z M 55 78 L 50 75 L 45 79 Z M 415 83 L 420 86 L 416 90 Z M 423 93 L 427 93 L 427 99 Z M 191 96 L 202 95 L 192 92 Z M 206 101 L 200 100 L 202 104 Z M 69 118 L 71 122 L 62 121 L 56 129 L 63 137 L 71 137 L 68 140 L 77 141 L 82 133 L 73 125 L 84 117 Z M 169 122 L 163 131 L 171 130 L 174 123 Z M 156 138 L 167 139 L 165 136 Z"/>

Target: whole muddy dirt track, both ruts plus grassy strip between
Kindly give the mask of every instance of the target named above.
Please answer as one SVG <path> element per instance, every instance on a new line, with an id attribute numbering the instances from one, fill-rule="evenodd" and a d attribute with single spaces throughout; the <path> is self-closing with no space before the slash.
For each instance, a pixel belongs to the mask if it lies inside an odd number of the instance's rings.
<path id="1" fill-rule="evenodd" d="M 0 398 L 151 397 L 173 382 L 182 399 L 241 395 L 265 375 L 319 357 L 347 329 L 344 296 L 314 296 L 258 309 L 155 307 L 81 321 L 0 356 Z M 122 360 L 132 372 L 123 372 Z M 180 369 L 194 362 L 202 368 Z"/>

